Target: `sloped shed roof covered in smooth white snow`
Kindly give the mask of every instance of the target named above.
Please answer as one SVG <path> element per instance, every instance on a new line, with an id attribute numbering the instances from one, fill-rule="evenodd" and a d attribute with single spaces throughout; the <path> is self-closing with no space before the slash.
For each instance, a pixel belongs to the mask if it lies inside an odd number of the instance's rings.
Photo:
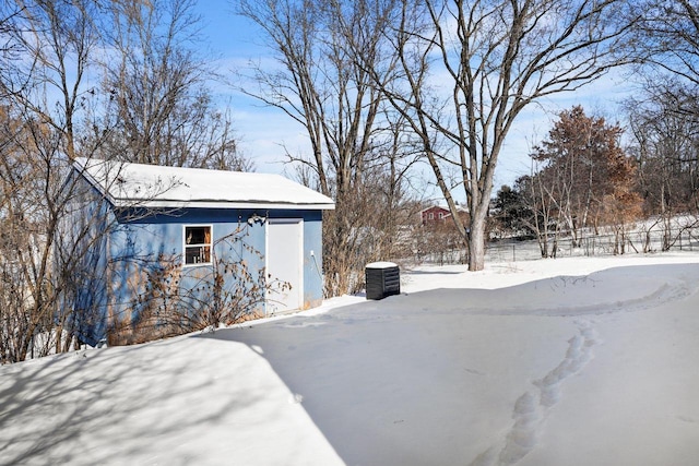
<path id="1" fill-rule="evenodd" d="M 82 157 L 73 166 L 117 207 L 334 208 L 332 199 L 281 175 Z"/>

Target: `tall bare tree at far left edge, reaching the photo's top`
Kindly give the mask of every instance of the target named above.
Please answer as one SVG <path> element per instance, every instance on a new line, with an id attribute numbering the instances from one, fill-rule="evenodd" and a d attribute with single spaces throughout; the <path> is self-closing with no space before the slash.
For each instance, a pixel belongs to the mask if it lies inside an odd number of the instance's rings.
<path id="1" fill-rule="evenodd" d="M 0 262 L 8 304 L 0 313 L 2 359 L 17 361 L 73 339 L 63 328 L 74 310 L 66 295 L 74 262 L 57 266 L 57 241 L 74 189 L 66 182 L 70 160 L 88 151 L 78 133 L 86 126 L 93 93 L 85 75 L 99 35 L 88 0 L 4 5 L 14 13 L 2 40 L 14 55 L 4 56 L 0 74 Z"/>

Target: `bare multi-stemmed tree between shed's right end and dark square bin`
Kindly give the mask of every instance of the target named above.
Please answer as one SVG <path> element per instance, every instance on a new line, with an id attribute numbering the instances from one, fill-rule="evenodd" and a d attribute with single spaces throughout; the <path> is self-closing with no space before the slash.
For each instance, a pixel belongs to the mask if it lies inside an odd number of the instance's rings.
<path id="1" fill-rule="evenodd" d="M 262 28 L 277 60 L 274 69 L 257 68 L 260 91 L 246 92 L 305 129 L 310 154 L 287 153 L 288 160 L 306 166 L 306 178 L 312 175 L 320 191 L 336 203 L 323 220 L 325 294 L 356 291 L 363 285 L 362 267 L 371 256 L 364 239 L 375 229 L 376 217 L 391 215 L 398 194 L 388 193 L 388 205 L 370 204 L 379 188 L 374 180 L 390 174 L 389 186 L 396 188 L 414 160 L 400 119 L 387 112 L 375 83 L 390 79 L 395 64 L 383 33 L 396 2 L 240 0 L 237 4 Z"/>

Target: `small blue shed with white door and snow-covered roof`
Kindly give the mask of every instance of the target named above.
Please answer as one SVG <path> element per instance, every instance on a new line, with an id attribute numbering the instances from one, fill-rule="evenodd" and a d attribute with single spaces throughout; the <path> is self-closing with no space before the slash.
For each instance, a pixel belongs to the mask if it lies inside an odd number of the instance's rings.
<path id="1" fill-rule="evenodd" d="M 330 198 L 268 174 L 79 158 L 72 176 L 87 189 L 69 223 L 94 224 L 83 340 L 321 303 Z"/>

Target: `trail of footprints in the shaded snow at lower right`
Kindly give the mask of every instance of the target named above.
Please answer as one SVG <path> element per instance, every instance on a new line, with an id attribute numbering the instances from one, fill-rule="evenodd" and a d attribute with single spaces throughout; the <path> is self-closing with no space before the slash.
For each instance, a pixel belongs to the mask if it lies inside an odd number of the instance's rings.
<path id="1" fill-rule="evenodd" d="M 579 373 L 592 359 L 592 349 L 600 343 L 588 321 L 576 321 L 578 333 L 568 340 L 566 358 L 543 379 L 534 381 L 535 390 L 525 392 L 514 403 L 513 425 L 505 438 L 481 453 L 470 466 L 513 465 L 531 452 L 549 410 L 558 403 L 561 385 Z"/>

